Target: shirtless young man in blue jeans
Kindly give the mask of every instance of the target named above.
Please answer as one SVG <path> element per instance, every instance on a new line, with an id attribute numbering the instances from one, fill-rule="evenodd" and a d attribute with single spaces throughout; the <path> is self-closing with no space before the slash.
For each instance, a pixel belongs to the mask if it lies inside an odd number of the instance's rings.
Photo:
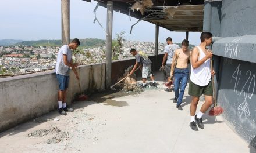
<path id="1" fill-rule="evenodd" d="M 187 86 L 187 79 L 189 78 L 189 69 L 187 68 L 187 63 L 190 57 L 190 50 L 189 41 L 184 39 L 182 41 L 182 48 L 175 50 L 175 54 L 173 56 L 173 63 L 177 58 L 177 65 L 176 68 L 175 64 L 172 64 L 172 69 L 170 71 L 170 76 L 173 76 L 173 69 L 174 69 L 174 91 L 175 91 L 175 98 L 173 99 L 173 103 L 177 103 L 178 110 L 182 110 L 180 104 L 182 104 L 183 95 L 185 92 L 185 88 Z M 179 91 L 180 89 L 180 91 Z"/>

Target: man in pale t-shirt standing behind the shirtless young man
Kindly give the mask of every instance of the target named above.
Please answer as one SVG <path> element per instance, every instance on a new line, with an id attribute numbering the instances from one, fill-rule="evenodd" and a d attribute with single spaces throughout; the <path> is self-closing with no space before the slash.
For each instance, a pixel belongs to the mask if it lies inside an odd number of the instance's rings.
<path id="1" fill-rule="evenodd" d="M 175 52 L 176 49 L 180 49 L 180 46 L 175 43 L 172 43 L 172 38 L 170 38 L 170 37 L 166 38 L 166 43 L 168 45 L 166 45 L 165 50 L 163 50 L 163 52 L 165 53 L 165 56 L 163 56 L 162 68 L 165 68 L 167 81 L 169 82 L 170 81 L 170 68 L 172 66 L 173 53 Z M 165 65 L 165 61 L 166 61 L 166 65 Z M 171 92 L 172 91 L 171 86 L 168 86 L 168 88 L 166 88 L 165 91 Z"/>

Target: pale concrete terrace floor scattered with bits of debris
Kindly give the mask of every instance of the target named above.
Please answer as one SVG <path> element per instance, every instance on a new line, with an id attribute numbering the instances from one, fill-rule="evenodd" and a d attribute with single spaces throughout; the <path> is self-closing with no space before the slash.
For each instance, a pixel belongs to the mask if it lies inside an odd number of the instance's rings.
<path id="1" fill-rule="evenodd" d="M 156 80 L 157 89 L 122 97 L 98 94 L 98 103 L 76 102 L 75 111 L 65 116 L 54 111 L 2 132 L 0 152 L 256 152 L 221 116 L 205 114 L 205 129 L 191 130 L 187 89 L 183 111 L 179 111 L 172 102 L 174 93 L 163 91 L 164 82 Z M 36 130 L 53 127 L 61 132 L 29 137 Z M 68 134 L 60 142 L 47 144 L 63 132 Z"/>

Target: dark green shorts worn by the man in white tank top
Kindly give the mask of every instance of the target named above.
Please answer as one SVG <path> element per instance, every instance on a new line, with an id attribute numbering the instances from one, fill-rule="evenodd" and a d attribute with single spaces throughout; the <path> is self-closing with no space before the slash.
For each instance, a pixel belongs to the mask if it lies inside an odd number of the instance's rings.
<path id="1" fill-rule="evenodd" d="M 192 81 L 189 81 L 189 95 L 200 97 L 202 94 L 205 96 L 212 96 L 212 80 L 209 82 L 207 86 L 198 86 L 195 85 Z"/>

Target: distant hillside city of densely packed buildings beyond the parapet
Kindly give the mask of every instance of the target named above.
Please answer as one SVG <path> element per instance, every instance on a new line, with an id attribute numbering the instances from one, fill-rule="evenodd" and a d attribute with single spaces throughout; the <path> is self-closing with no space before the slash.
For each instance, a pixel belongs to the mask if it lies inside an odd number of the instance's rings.
<path id="1" fill-rule="evenodd" d="M 48 42 L 49 43 L 49 42 Z M 142 50 L 148 56 L 154 55 L 154 42 L 122 41 L 122 52 L 118 53 L 116 60 L 134 58 L 130 49 Z M 158 54 L 163 53 L 165 43 L 159 42 Z M 52 70 L 56 65 L 56 57 L 61 46 L 27 46 L 10 45 L 0 46 L 0 75 L 20 75 L 31 72 Z M 72 59 L 81 65 L 104 63 L 106 46 L 100 45 L 92 48 L 80 46 L 73 52 Z M 113 54 L 113 53 L 112 53 Z"/>

